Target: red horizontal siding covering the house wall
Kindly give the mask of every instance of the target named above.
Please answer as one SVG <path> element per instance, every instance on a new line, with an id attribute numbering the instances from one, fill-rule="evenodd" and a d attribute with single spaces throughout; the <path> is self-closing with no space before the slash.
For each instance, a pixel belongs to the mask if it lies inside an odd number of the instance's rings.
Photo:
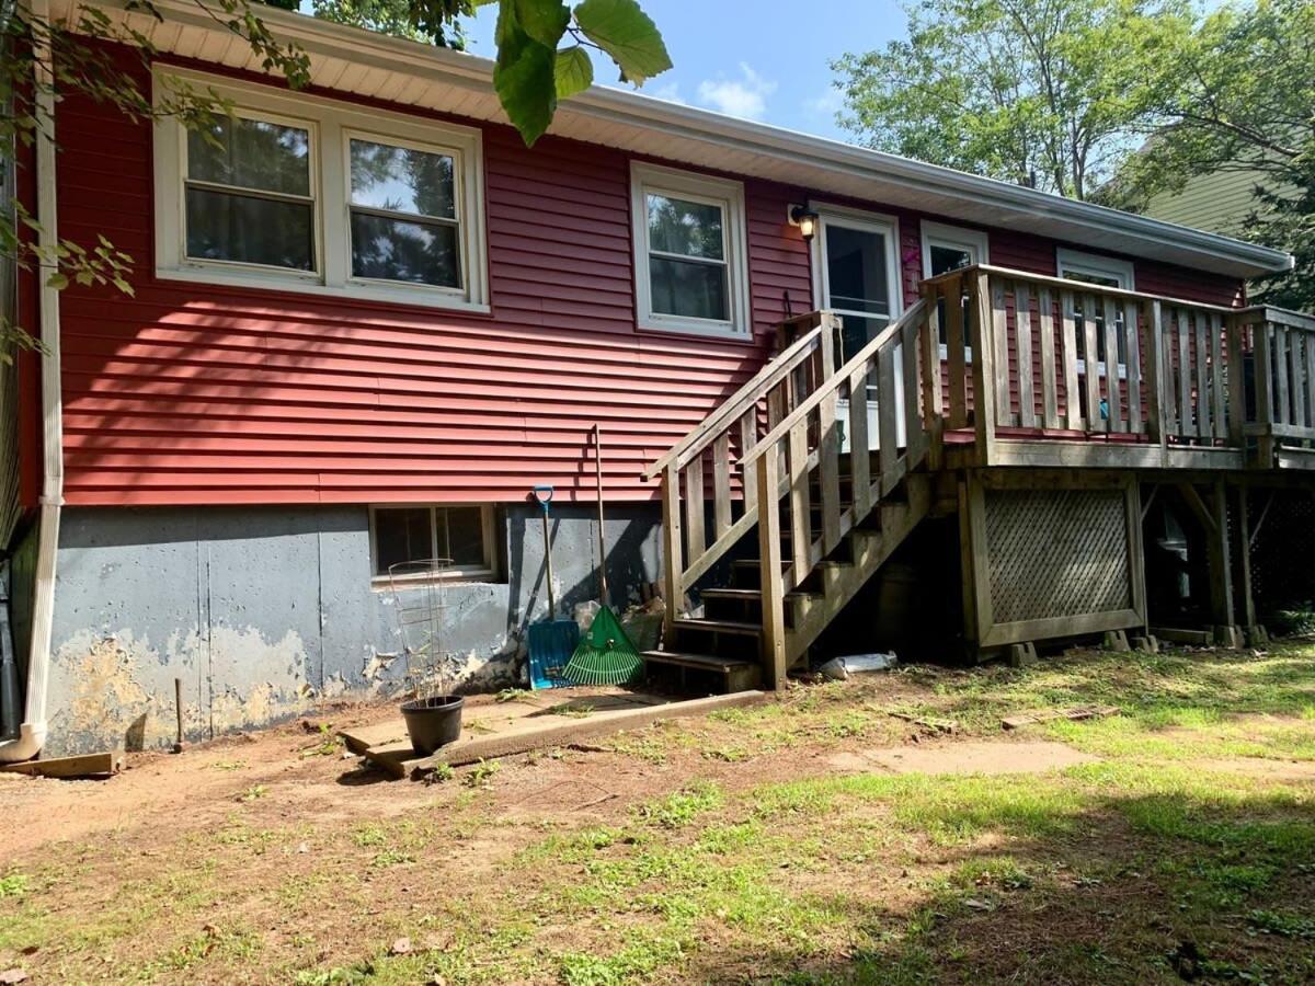
<path id="1" fill-rule="evenodd" d="M 156 280 L 150 126 L 67 99 L 60 230 L 104 231 L 137 258 L 135 297 L 63 300 L 67 501 L 517 501 L 544 481 L 586 500 L 594 422 L 609 496 L 655 496 L 642 468 L 756 371 L 776 322 L 813 306 L 807 248 L 786 222 L 810 196 L 746 181 L 753 346 L 643 333 L 629 158 L 483 131 L 490 317 Z M 920 217 L 898 218 L 911 301 Z M 992 260 L 1051 273 L 1055 243 L 992 231 Z M 1191 297 L 1219 291 L 1153 276 Z"/>

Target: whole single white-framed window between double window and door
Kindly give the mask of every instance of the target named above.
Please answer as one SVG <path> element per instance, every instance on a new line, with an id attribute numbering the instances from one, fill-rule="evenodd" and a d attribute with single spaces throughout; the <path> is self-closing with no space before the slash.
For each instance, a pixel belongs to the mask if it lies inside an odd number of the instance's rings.
<path id="1" fill-rule="evenodd" d="M 634 164 L 639 326 L 748 338 L 744 188 Z"/>

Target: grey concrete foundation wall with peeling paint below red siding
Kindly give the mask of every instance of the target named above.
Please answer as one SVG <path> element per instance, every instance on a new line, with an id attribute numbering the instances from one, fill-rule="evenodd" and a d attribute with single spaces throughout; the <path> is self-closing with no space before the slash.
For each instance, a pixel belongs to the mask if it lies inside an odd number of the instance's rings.
<path id="1" fill-rule="evenodd" d="M 659 521 L 609 510 L 614 603 L 658 580 Z M 533 505 L 500 510 L 498 580 L 448 588 L 458 690 L 525 682 L 526 626 L 547 615 L 540 525 Z M 594 507 L 555 507 L 552 538 L 568 614 L 598 593 Z M 364 506 L 66 509 L 46 753 L 170 745 L 175 677 L 189 741 L 396 690 L 402 639 L 370 557 Z"/>

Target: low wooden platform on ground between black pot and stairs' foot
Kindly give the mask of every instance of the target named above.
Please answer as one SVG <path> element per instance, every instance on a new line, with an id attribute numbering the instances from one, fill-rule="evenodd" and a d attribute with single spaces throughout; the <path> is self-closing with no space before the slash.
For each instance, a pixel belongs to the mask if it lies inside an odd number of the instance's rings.
<path id="1" fill-rule="evenodd" d="M 551 693 L 550 693 L 551 694 Z M 418 756 L 406 739 L 406 727 L 398 722 L 362 730 L 345 730 L 339 735 L 347 748 L 359 752 L 393 777 L 413 777 L 431 772 L 439 764 L 462 766 L 490 757 L 513 756 L 531 749 L 560 747 L 593 736 L 633 730 L 660 719 L 702 715 L 759 702 L 763 692 L 738 692 L 709 698 L 668 699 L 656 695 L 585 695 L 562 694 L 554 705 L 529 714 L 506 714 L 492 707 L 490 714 L 473 715 L 462 726 L 462 738 L 433 756 Z M 479 711 L 489 710 L 483 706 Z M 502 711 L 498 715 L 497 711 Z"/>

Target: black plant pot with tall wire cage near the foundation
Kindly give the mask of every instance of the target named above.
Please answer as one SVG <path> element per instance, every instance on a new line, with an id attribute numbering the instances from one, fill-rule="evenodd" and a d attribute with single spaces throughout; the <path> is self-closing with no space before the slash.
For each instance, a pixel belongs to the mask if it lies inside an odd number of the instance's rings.
<path id="1" fill-rule="evenodd" d="M 451 559 L 423 559 L 388 568 L 412 694 L 402 702 L 402 720 L 412 748 L 421 756 L 429 756 L 462 735 L 464 699 L 448 690 L 451 657 L 442 648 L 451 565 Z"/>

